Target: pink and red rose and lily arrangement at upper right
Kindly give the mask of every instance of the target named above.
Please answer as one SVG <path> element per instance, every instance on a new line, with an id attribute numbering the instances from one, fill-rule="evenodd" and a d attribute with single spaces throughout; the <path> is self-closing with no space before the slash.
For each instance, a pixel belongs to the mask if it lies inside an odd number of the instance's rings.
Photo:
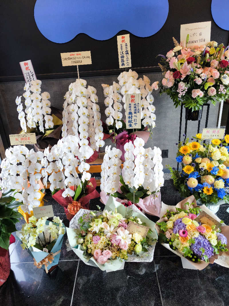
<path id="1" fill-rule="evenodd" d="M 229 50 L 221 43 L 211 41 L 203 46 L 187 48 L 189 35 L 185 43 L 179 45 L 173 38 L 175 47 L 166 57 L 161 56 L 164 78 L 160 84 L 160 94 L 165 92 L 177 107 L 184 104 L 192 110 L 201 109 L 209 100 L 225 100 L 229 94 Z M 218 46 L 218 47 L 217 47 Z"/>

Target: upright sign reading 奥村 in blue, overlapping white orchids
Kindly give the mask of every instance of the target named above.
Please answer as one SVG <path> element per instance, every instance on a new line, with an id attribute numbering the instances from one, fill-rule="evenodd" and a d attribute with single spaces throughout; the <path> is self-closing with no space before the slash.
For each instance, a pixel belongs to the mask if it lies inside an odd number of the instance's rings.
<path id="1" fill-rule="evenodd" d="M 141 94 L 126 94 L 125 96 L 125 117 L 127 129 L 141 128 Z"/>

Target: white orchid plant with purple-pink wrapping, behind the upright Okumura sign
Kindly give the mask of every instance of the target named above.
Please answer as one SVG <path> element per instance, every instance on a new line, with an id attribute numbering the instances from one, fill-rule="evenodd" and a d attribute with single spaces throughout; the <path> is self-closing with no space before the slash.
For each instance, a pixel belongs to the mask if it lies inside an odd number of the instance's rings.
<path id="1" fill-rule="evenodd" d="M 125 143 L 132 141 L 138 136 L 143 138 L 147 142 L 151 131 L 155 127 L 156 116 L 154 114 L 155 107 L 152 105 L 154 97 L 152 96 L 152 90 L 158 89 L 158 82 L 154 82 L 150 86 L 150 79 L 147 76 L 138 79 L 138 74 L 135 71 L 129 69 L 129 72 L 122 72 L 118 76 L 118 83 L 113 82 L 113 85 L 102 84 L 104 89 L 104 100 L 107 106 L 105 114 L 107 115 L 106 124 L 111 133 L 111 140 L 116 141 L 117 148 L 123 151 Z M 141 123 L 140 129 L 126 129 L 125 120 L 123 120 L 122 109 L 125 110 L 125 96 L 126 94 L 141 94 Z M 152 136 L 151 136 L 152 137 Z M 124 153 L 122 155 L 124 159 Z"/>

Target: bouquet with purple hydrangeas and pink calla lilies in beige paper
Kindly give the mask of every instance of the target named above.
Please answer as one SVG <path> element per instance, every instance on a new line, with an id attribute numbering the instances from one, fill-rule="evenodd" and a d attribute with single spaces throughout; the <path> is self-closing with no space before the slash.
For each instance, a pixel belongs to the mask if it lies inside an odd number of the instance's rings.
<path id="1" fill-rule="evenodd" d="M 162 203 L 161 217 L 158 240 L 181 257 L 184 268 L 202 270 L 214 262 L 229 268 L 229 226 L 205 205 L 197 207 L 194 196 L 176 206 Z"/>

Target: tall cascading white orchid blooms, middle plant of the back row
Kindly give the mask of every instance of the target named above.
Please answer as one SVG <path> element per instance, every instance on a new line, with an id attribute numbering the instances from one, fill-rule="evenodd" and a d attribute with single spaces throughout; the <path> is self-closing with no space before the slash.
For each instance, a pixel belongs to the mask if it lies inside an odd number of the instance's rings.
<path id="1" fill-rule="evenodd" d="M 93 151 L 99 151 L 105 142 L 98 97 L 96 89 L 86 88 L 86 84 L 85 80 L 77 79 L 64 96 L 62 137 L 79 135 L 80 140 L 89 139 Z"/>

